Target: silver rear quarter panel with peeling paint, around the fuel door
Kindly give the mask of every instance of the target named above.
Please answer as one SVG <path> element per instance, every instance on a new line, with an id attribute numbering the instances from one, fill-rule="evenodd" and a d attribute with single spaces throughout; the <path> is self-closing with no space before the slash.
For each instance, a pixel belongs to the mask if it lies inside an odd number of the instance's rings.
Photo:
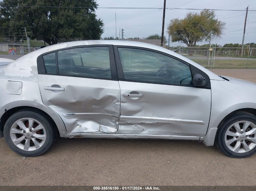
<path id="1" fill-rule="evenodd" d="M 33 54 L 22 56 L 9 65 L 0 66 L 0 107 L 7 110 L 20 106 L 38 108 L 52 117 L 60 135 L 65 136 L 65 125 L 60 117 L 42 102 L 38 86 L 37 57 L 34 57 Z M 6 84 L 8 81 L 21 82 L 21 94 L 7 94 Z"/>

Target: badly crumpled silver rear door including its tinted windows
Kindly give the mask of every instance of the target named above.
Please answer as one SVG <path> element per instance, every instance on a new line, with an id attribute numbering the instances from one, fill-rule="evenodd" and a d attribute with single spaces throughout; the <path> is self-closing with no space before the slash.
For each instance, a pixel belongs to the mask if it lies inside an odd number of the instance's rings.
<path id="1" fill-rule="evenodd" d="M 42 55 L 43 103 L 62 118 L 68 133 L 115 133 L 120 88 L 112 46 L 62 49 Z"/>

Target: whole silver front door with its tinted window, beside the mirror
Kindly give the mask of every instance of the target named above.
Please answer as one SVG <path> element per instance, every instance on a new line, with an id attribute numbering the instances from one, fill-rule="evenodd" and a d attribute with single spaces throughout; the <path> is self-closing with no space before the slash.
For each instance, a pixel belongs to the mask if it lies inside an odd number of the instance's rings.
<path id="1" fill-rule="evenodd" d="M 168 54 L 115 46 L 121 134 L 204 136 L 211 111 L 210 80 L 192 85 L 190 65 Z M 204 74 L 205 75 L 205 74 Z"/>

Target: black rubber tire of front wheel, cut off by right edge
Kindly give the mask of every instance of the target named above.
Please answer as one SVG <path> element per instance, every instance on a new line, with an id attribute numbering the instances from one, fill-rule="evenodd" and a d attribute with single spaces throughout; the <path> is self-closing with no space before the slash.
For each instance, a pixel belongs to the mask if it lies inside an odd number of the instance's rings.
<path id="1" fill-rule="evenodd" d="M 237 113 L 234 113 L 233 115 L 225 119 L 224 122 L 220 125 L 220 127 L 218 128 L 218 132 L 215 140 L 216 146 L 220 148 L 224 154 L 232 158 L 246 158 L 256 153 L 256 147 L 245 153 L 236 153 L 234 151 L 231 151 L 225 144 L 226 131 L 232 124 L 239 121 L 249 121 L 256 124 L 256 116 L 245 111 L 239 111 Z"/>

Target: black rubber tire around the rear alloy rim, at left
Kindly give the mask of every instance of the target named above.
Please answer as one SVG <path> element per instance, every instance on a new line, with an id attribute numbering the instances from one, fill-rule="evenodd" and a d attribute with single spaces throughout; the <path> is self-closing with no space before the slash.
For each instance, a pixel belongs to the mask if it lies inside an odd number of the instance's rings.
<path id="1" fill-rule="evenodd" d="M 40 122 L 46 132 L 46 139 L 45 143 L 42 145 L 41 148 L 38 148 L 35 151 L 25 151 L 20 148 L 18 148 L 11 139 L 10 130 L 12 125 L 19 119 L 22 118 L 32 118 Z M 6 121 L 4 126 L 4 138 L 5 142 L 8 144 L 8 146 L 16 153 L 25 156 L 25 157 L 35 157 L 44 154 L 46 151 L 49 150 L 49 148 L 52 146 L 52 144 L 56 140 L 56 127 L 55 124 L 52 122 L 51 119 L 47 115 L 45 115 L 43 112 L 40 112 L 38 110 L 29 110 L 24 109 L 20 110 L 14 114 L 12 114 Z"/>

